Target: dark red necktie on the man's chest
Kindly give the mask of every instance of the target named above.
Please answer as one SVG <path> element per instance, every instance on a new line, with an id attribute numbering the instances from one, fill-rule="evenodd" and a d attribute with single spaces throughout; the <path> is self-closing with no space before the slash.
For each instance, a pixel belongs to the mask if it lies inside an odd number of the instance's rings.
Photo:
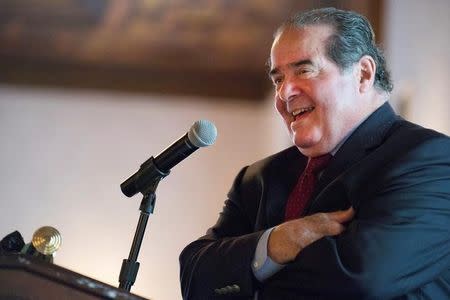
<path id="1" fill-rule="evenodd" d="M 314 192 L 318 174 L 326 167 L 331 157 L 331 154 L 325 154 L 313 157 L 308 161 L 308 165 L 289 195 L 284 214 L 285 221 L 301 216 Z"/>

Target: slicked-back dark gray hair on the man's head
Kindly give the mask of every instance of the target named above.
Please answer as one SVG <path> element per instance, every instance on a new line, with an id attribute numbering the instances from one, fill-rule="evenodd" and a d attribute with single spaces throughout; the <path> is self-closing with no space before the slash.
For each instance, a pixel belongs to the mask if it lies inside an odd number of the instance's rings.
<path id="1" fill-rule="evenodd" d="M 276 35 L 287 27 L 302 28 L 309 25 L 329 25 L 334 29 L 327 41 L 327 56 L 342 71 L 364 55 L 369 55 L 376 64 L 375 87 L 388 93 L 392 91 L 393 84 L 385 58 L 375 43 L 372 26 L 364 16 L 332 7 L 300 12 L 281 25 Z"/>

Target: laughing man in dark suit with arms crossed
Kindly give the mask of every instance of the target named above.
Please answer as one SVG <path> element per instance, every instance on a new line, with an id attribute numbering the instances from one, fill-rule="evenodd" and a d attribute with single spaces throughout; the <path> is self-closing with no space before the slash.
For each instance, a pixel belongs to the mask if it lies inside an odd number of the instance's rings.
<path id="1" fill-rule="evenodd" d="M 449 299 L 450 139 L 394 114 L 367 20 L 296 15 L 269 75 L 295 146 L 238 174 L 180 255 L 183 297 Z"/>

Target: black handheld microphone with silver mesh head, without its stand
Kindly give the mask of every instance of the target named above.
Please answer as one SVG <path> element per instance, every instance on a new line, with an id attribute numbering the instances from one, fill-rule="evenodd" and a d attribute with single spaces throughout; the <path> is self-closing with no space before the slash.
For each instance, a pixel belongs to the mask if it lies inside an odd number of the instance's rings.
<path id="1" fill-rule="evenodd" d="M 146 194 L 154 184 L 166 177 L 175 165 L 191 155 L 200 147 L 214 144 L 217 137 L 217 128 L 208 120 L 196 121 L 189 131 L 170 145 L 156 157 L 146 160 L 139 170 L 125 180 L 120 188 L 127 197 L 136 193 Z"/>

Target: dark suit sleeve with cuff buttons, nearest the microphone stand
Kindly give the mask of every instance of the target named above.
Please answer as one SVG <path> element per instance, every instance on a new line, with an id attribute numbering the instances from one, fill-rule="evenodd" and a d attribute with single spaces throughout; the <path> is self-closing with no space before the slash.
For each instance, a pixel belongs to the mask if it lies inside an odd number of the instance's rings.
<path id="1" fill-rule="evenodd" d="M 212 299 L 230 287 L 229 296 L 253 295 L 251 261 L 263 231 L 253 232 L 248 203 L 242 201 L 246 171 L 236 177 L 217 223 L 180 254 L 183 299 Z"/>

